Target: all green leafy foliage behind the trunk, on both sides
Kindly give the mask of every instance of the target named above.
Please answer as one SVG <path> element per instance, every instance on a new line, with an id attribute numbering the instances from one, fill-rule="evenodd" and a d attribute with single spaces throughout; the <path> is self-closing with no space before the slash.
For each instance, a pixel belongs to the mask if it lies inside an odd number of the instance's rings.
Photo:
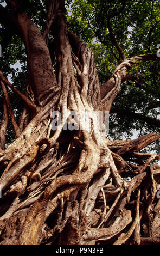
<path id="1" fill-rule="evenodd" d="M 20 2 L 42 31 L 46 18 L 46 2 L 39 0 Z M 158 1 L 69 0 L 66 3 L 66 10 L 68 12 L 68 28 L 79 35 L 94 52 L 100 84 L 105 83 L 111 77 L 113 70 L 121 62 L 108 32 L 108 14 L 111 16 L 113 34 L 123 48 L 126 57 L 156 53 L 157 51 L 156 46 L 159 43 L 160 32 Z M 2 47 L 6 33 L 7 31 L 2 25 L 0 27 Z M 54 41 L 51 34 L 48 40 L 49 49 L 52 52 Z M 24 77 L 27 73 L 24 44 L 20 36 L 12 35 L 8 45 L 4 44 L 4 46 L 1 69 L 5 75 L 12 77 L 15 86 L 24 90 Z M 20 64 L 18 65 L 19 70 L 17 65 L 13 66 L 17 62 Z M 134 131 L 137 131 L 136 133 L 139 135 L 160 132 L 158 126 L 150 125 L 137 118 L 129 118 L 129 114 L 125 114 L 126 112 L 142 113 L 142 115 L 159 119 L 159 65 L 157 61 L 157 63 L 135 63 L 132 66 L 129 74 L 141 74 L 142 76 L 121 84 L 120 92 L 111 109 L 112 114 L 110 114 L 111 138 L 124 138 L 124 136 L 130 138 L 135 134 Z M 54 69 L 56 69 L 55 65 Z M 18 105 L 20 102 L 15 100 L 17 115 L 18 109 L 20 109 Z M 116 111 L 117 107 L 120 107 L 120 112 Z M 158 150 L 158 144 L 156 147 Z"/>

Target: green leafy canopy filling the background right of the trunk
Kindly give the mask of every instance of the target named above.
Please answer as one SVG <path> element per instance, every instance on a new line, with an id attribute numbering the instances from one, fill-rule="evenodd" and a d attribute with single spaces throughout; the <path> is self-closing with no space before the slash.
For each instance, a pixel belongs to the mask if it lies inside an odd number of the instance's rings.
<path id="1" fill-rule="evenodd" d="M 111 77 L 120 63 L 122 56 L 117 42 L 127 58 L 147 52 L 156 53 L 159 43 L 158 9 L 157 1 L 73 2 L 68 17 L 69 27 L 75 34 L 79 33 L 93 50 L 100 85 Z M 107 13 L 110 14 L 109 19 Z M 139 136 L 159 133 L 158 65 L 158 62 L 135 63 L 121 83 L 110 111 L 111 138 L 130 138 L 133 129 Z M 151 149 L 158 153 L 159 144 L 148 147 Z"/>

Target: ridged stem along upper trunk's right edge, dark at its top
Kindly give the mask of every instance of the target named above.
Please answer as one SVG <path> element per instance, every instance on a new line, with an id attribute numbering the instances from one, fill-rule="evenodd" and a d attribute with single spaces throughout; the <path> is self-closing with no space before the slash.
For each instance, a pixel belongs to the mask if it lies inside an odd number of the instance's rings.
<path id="1" fill-rule="evenodd" d="M 78 81 L 81 80 L 81 95 L 88 97 L 94 110 L 101 110 L 100 85 L 92 50 L 79 36 L 68 30 L 68 38 L 72 47 L 73 64 Z"/>

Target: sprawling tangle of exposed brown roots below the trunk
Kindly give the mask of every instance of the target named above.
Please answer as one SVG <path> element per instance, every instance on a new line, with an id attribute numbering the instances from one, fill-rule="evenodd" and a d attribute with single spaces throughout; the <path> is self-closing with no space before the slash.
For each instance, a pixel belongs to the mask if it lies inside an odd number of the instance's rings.
<path id="1" fill-rule="evenodd" d="M 57 136 L 59 143 L 54 144 Z M 127 142 L 105 141 L 98 130 L 92 135 L 85 130 L 72 131 L 68 141 L 64 136 L 64 131 L 55 132 L 50 138 L 42 136 L 38 143 L 35 139 L 33 145 L 21 136 L 1 151 L 6 165 L 1 176 L 1 243 L 88 245 L 108 241 L 121 245 L 131 235 L 134 244 L 144 243 L 143 236 L 153 241 L 159 214 L 155 203 L 160 168 L 149 163 L 160 157 L 137 151 L 159 135 Z M 147 160 L 137 166 L 130 164 L 130 157 L 136 162 Z M 132 180 L 125 181 L 121 175 Z M 9 223 L 17 233 L 8 240 Z"/>

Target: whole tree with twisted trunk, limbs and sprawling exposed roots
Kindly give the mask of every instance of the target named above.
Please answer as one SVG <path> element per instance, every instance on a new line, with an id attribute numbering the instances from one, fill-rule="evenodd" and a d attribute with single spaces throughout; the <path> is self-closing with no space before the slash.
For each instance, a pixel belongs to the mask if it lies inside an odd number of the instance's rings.
<path id="1" fill-rule="evenodd" d="M 6 63 L 0 72 L 1 245 L 159 243 L 160 168 L 150 163 L 160 156 L 139 152 L 157 141 L 159 133 L 112 141 L 100 132 L 128 70 L 135 63 L 157 63 L 156 54 L 126 58 L 112 31 L 116 8 L 111 8 L 108 31 L 121 61 L 100 86 L 93 51 L 67 28 L 63 0 L 5 2 L 5 8 L 0 6 L 7 35 L 2 49 L 11 40 L 20 47 L 23 40 L 20 58 L 25 62 L 26 53 L 27 71 L 24 66 L 22 76 L 14 75 L 14 85 L 6 78 Z M 18 51 L 13 52 L 15 57 Z M 18 121 L 9 88 L 24 105 L 18 105 Z M 103 112 L 103 127 L 95 112 Z M 89 126 L 81 113 L 89 115 Z M 16 137 L 9 145 L 8 125 Z"/>

